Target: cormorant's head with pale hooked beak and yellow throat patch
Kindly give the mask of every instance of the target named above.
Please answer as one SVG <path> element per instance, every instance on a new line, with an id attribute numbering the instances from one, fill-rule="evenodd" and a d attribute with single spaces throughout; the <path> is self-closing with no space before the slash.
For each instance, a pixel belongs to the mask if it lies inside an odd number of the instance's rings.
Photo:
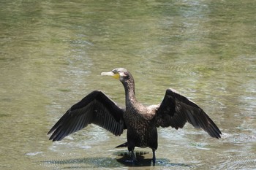
<path id="1" fill-rule="evenodd" d="M 131 77 L 131 74 L 124 68 L 113 69 L 111 72 L 102 72 L 101 75 L 113 77 L 121 82 L 129 80 L 129 77 Z"/>

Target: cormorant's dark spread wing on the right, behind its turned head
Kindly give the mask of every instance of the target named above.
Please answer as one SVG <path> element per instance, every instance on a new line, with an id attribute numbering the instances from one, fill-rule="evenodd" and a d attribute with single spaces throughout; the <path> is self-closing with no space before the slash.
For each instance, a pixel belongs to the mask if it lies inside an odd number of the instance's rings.
<path id="1" fill-rule="evenodd" d="M 210 136 L 220 138 L 221 131 L 206 112 L 176 90 L 167 89 L 165 98 L 157 109 L 157 127 L 183 128 L 186 122 L 203 128 Z"/>

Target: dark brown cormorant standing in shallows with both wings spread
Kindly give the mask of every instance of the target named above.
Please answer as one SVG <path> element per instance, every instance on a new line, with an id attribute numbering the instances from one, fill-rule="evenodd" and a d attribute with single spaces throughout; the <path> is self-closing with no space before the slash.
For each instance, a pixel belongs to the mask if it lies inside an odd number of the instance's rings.
<path id="1" fill-rule="evenodd" d="M 135 82 L 127 69 L 113 69 L 111 72 L 102 72 L 101 75 L 111 76 L 122 82 L 126 108 L 118 107 L 105 93 L 94 90 L 68 109 L 53 125 L 48 132 L 53 133 L 50 140 L 60 141 L 90 123 L 99 125 L 116 136 L 120 136 L 127 129 L 127 142 L 118 147 L 128 147 L 132 162 L 136 161 L 135 147 L 150 147 L 153 152 L 152 161 L 155 163 L 159 126 L 178 129 L 188 122 L 195 128 L 203 128 L 211 137 L 221 137 L 221 131 L 206 112 L 176 90 L 167 89 L 160 104 L 146 107 L 137 101 Z"/>

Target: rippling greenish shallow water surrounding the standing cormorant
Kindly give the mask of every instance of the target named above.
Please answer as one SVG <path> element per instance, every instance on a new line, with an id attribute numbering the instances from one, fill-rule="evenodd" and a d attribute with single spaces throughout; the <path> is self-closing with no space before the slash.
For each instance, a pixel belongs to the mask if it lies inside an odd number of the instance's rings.
<path id="1" fill-rule="evenodd" d="M 255 169 L 255 1 L 1 1 L 0 169 Z M 72 104 L 103 90 L 124 106 L 125 67 L 138 100 L 174 88 L 200 105 L 222 139 L 159 128 L 157 164 L 89 125 L 61 142 L 46 134 Z"/>

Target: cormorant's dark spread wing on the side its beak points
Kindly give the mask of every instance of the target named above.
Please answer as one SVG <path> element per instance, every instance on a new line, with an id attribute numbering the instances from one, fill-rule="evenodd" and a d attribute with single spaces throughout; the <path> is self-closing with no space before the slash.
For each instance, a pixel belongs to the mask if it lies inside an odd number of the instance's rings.
<path id="1" fill-rule="evenodd" d="M 94 123 L 118 136 L 126 128 L 123 114 L 124 109 L 119 108 L 101 91 L 95 90 L 68 109 L 48 134 L 53 133 L 50 140 L 59 141 Z"/>

